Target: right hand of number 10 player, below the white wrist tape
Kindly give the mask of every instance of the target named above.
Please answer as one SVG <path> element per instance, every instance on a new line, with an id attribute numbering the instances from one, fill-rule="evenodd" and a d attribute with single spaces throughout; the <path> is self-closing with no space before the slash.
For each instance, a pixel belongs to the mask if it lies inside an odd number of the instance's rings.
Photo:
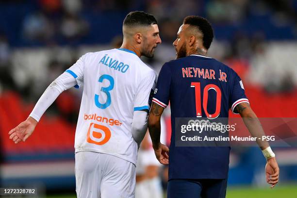
<path id="1" fill-rule="evenodd" d="M 266 181 L 273 188 L 279 182 L 280 168 L 275 157 L 268 158 L 265 166 Z"/>

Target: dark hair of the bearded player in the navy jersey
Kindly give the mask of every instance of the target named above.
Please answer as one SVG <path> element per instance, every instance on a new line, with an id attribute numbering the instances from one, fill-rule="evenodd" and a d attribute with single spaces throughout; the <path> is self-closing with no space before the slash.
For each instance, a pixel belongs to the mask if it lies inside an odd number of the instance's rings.
<path id="1" fill-rule="evenodd" d="M 189 24 L 190 26 L 197 27 L 203 34 L 203 46 L 209 49 L 213 42 L 214 30 L 210 22 L 201 16 L 187 16 L 183 19 L 183 24 Z"/>

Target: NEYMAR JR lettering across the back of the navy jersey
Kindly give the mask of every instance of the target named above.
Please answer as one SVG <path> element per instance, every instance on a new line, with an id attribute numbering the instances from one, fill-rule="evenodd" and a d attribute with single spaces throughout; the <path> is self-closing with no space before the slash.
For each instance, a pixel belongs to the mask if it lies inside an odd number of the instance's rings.
<path id="1" fill-rule="evenodd" d="M 215 71 L 213 69 L 205 69 L 198 67 L 185 67 L 181 68 L 183 78 L 203 78 L 203 79 L 215 79 Z M 219 81 L 227 82 L 227 74 L 220 70 Z"/>

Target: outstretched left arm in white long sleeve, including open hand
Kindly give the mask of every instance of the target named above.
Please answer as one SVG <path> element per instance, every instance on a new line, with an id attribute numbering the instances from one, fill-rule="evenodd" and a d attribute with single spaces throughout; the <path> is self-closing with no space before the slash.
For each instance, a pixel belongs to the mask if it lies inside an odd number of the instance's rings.
<path id="1" fill-rule="evenodd" d="M 12 129 L 8 134 L 9 138 L 16 144 L 26 139 L 33 133 L 38 121 L 49 106 L 57 99 L 57 97 L 66 89 L 76 85 L 76 80 L 69 73 L 61 74 L 42 94 L 37 101 L 30 116 L 16 128 Z"/>

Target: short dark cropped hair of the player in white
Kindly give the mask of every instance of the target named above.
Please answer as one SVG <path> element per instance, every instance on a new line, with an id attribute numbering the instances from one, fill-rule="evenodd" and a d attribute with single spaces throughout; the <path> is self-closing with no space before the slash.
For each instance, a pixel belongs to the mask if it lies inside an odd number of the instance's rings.
<path id="1" fill-rule="evenodd" d="M 123 25 L 125 26 L 138 26 L 138 25 L 154 25 L 157 20 L 154 16 L 143 11 L 130 12 L 124 19 Z"/>

